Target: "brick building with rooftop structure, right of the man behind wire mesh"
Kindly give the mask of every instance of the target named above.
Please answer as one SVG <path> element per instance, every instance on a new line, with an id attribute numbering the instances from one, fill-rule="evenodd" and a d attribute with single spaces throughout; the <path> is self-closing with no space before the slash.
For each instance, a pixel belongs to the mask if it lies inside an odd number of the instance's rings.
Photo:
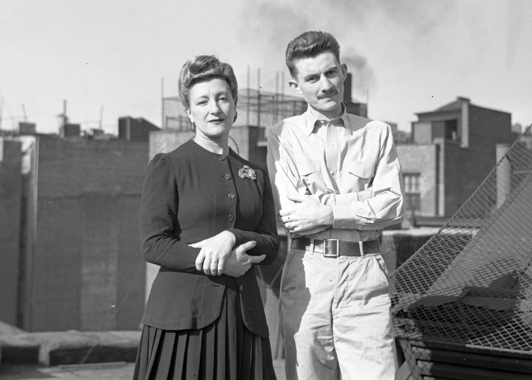
<path id="1" fill-rule="evenodd" d="M 496 164 L 497 144 L 510 144 L 511 114 L 457 97 L 435 111 L 417 113 L 412 143 L 398 144 L 405 205 L 418 221 L 448 219 Z M 436 218 L 438 219 L 438 218 Z M 437 223 L 436 219 L 432 219 Z"/>

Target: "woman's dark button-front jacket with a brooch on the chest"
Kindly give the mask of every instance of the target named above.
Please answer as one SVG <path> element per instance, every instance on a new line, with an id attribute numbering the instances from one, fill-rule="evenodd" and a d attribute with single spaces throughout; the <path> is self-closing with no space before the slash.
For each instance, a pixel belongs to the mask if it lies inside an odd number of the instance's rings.
<path id="1" fill-rule="evenodd" d="M 256 179 L 240 178 L 247 165 Z M 265 254 L 261 265 L 277 257 L 278 240 L 268 175 L 230 151 L 220 155 L 188 141 L 149 163 L 140 202 L 140 244 L 144 259 L 160 265 L 142 323 L 166 330 L 200 329 L 218 318 L 227 275 L 196 270 L 200 248 L 188 244 L 223 230 L 236 245 L 254 240 L 250 255 Z M 268 337 L 268 326 L 254 267 L 236 277 L 244 324 Z"/>

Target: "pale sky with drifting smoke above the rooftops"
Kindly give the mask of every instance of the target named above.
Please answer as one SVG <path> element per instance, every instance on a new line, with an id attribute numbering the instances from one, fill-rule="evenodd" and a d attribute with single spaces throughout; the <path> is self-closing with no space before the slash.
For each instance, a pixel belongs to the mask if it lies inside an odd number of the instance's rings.
<path id="1" fill-rule="evenodd" d="M 57 115 L 116 133 L 118 118 L 161 125 L 182 65 L 216 54 L 239 88 L 276 89 L 288 42 L 331 32 L 368 117 L 409 131 L 455 100 L 532 123 L 532 0 L 0 0 L 2 129 L 57 133 Z M 164 78 L 164 88 L 162 86 Z M 103 110 L 103 112 L 102 112 Z"/>

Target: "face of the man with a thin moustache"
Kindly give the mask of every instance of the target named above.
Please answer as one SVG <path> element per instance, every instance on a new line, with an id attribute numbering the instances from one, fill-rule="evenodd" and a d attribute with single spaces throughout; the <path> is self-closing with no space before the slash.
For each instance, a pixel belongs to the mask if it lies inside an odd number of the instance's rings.
<path id="1" fill-rule="evenodd" d="M 290 80 L 290 87 L 303 95 L 311 108 L 323 115 L 330 116 L 341 110 L 340 103 L 344 96 L 344 80 L 347 67 L 340 65 L 336 56 L 329 51 L 312 58 L 295 62 L 296 78 Z M 334 114 L 332 117 L 337 117 Z"/>

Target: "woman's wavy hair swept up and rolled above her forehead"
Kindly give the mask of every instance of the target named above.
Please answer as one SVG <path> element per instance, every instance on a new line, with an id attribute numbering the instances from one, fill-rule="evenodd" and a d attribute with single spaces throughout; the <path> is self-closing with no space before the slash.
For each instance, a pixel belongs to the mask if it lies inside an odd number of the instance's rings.
<path id="1" fill-rule="evenodd" d="M 179 75 L 179 96 L 186 109 L 190 108 L 190 89 L 197 82 L 213 78 L 227 81 L 236 106 L 238 84 L 231 65 L 226 62 L 220 62 L 214 55 L 198 55 L 183 65 Z"/>

